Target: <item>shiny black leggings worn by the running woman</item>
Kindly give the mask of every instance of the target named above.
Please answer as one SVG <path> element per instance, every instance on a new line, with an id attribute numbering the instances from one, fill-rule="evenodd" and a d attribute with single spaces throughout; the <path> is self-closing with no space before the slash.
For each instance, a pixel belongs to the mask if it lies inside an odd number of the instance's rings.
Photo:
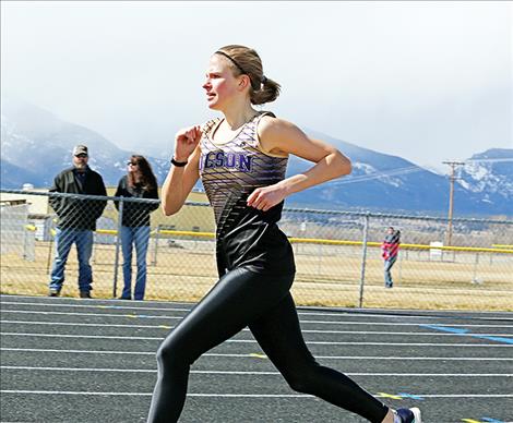
<path id="1" fill-rule="evenodd" d="M 317 363 L 308 350 L 289 293 L 293 279 L 294 275 L 273 277 L 247 268 L 226 274 L 158 349 L 148 422 L 177 422 L 191 364 L 246 326 L 294 390 L 382 422 L 386 406 L 347 376 Z"/>

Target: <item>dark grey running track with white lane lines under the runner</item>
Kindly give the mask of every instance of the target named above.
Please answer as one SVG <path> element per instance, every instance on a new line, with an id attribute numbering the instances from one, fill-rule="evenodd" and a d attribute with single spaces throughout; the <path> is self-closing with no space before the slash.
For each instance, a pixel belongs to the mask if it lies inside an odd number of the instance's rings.
<path id="1" fill-rule="evenodd" d="M 144 422 L 189 303 L 0 295 L 2 422 Z M 513 313 L 298 309 L 319 362 L 426 423 L 513 421 Z M 247 330 L 192 367 L 180 422 L 363 422 L 288 388 Z"/>

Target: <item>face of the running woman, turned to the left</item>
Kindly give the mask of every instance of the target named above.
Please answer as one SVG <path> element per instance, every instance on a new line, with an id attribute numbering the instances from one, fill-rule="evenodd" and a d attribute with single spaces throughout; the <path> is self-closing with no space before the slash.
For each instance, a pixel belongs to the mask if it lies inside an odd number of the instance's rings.
<path id="1" fill-rule="evenodd" d="M 219 55 L 212 56 L 203 84 L 208 108 L 223 110 L 225 105 L 240 92 L 237 89 L 239 80 L 240 77 L 234 76 L 228 59 Z"/>

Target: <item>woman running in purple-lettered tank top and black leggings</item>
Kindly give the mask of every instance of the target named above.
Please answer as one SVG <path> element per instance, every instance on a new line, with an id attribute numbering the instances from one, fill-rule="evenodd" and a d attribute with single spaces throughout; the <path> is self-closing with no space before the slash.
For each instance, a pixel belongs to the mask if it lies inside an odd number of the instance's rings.
<path id="1" fill-rule="evenodd" d="M 349 160 L 293 123 L 253 108 L 279 94 L 253 49 L 234 45 L 217 50 L 203 88 L 208 108 L 223 118 L 177 133 L 174 166 L 163 185 L 163 210 L 167 216 L 177 213 L 202 179 L 217 225 L 219 280 L 158 349 L 148 422 L 177 422 L 191 364 L 248 326 L 293 389 L 370 422 L 420 423 L 418 409 L 393 411 L 344 374 L 320 365 L 303 341 L 289 293 L 293 250 L 276 225 L 284 200 L 348 174 Z M 290 154 L 314 165 L 285 178 Z"/>

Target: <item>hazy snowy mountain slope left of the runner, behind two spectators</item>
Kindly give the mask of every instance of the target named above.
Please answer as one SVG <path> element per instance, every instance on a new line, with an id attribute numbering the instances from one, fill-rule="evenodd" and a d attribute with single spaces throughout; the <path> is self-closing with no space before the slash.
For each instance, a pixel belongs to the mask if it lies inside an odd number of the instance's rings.
<path id="1" fill-rule="evenodd" d="M 49 186 L 53 177 L 71 166 L 71 152 L 76 144 L 90 149 L 90 166 L 114 185 L 127 169 L 130 155 L 87 128 L 62 121 L 47 110 L 20 100 L 2 97 L 1 116 L 1 186 Z M 162 178 L 167 160 L 150 158 Z M 19 169 L 23 169 L 23 172 Z"/>

